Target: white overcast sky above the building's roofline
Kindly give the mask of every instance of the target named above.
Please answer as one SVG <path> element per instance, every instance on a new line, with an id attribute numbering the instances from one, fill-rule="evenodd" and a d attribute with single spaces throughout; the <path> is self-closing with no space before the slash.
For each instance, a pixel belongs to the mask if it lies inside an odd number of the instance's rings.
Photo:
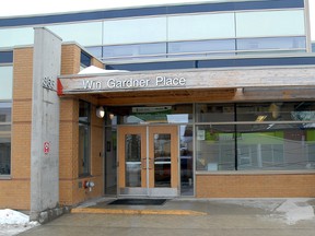
<path id="1" fill-rule="evenodd" d="M 43 13 L 75 12 L 82 10 L 211 1 L 213 2 L 218 0 L 10 0 L 5 1 L 5 5 L 0 8 L 0 20 L 1 17 L 13 15 L 34 15 Z M 311 37 L 312 40 L 315 42 L 315 0 L 308 1 L 311 15 Z"/>

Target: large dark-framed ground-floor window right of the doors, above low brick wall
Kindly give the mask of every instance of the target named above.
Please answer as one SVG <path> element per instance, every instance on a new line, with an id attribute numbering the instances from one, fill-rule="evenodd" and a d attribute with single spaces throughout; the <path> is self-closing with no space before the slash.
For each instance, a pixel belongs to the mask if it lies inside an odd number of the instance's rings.
<path id="1" fill-rule="evenodd" d="M 315 103 L 196 108 L 197 170 L 315 169 Z"/>

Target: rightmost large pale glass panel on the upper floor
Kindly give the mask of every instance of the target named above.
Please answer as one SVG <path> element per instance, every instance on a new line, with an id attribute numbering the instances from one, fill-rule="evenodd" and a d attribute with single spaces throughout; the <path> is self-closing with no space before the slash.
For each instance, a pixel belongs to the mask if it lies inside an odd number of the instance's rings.
<path id="1" fill-rule="evenodd" d="M 304 11 L 236 13 L 236 37 L 305 35 Z"/>

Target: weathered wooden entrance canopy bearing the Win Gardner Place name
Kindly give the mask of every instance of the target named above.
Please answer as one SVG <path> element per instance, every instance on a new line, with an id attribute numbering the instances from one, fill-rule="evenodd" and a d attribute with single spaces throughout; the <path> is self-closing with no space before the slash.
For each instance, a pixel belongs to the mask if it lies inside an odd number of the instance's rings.
<path id="1" fill-rule="evenodd" d="M 102 69 L 101 69 L 102 70 Z M 306 88 L 306 90 L 305 90 Z M 58 94 L 91 94 L 100 104 L 312 98 L 315 68 L 237 68 L 179 71 L 101 71 L 59 76 Z M 312 90 L 312 91 L 311 91 Z"/>

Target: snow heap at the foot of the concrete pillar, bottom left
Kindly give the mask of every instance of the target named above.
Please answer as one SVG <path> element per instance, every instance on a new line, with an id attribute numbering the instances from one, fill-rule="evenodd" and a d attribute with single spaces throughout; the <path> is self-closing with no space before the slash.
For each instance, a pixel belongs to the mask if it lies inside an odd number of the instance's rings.
<path id="1" fill-rule="evenodd" d="M 11 209 L 0 210 L 0 236 L 12 236 L 39 225 L 30 217 Z"/>

